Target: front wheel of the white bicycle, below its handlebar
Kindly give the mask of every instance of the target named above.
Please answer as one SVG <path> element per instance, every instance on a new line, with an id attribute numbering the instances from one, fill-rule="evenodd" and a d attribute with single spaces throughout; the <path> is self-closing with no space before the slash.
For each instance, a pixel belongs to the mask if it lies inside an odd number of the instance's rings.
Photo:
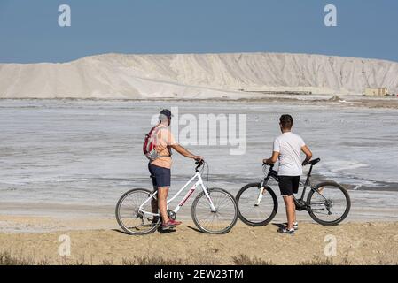
<path id="1" fill-rule="evenodd" d="M 210 188 L 208 194 L 215 205 L 201 192 L 192 203 L 192 219 L 204 233 L 228 233 L 238 220 L 238 205 L 233 195 L 222 188 Z"/>

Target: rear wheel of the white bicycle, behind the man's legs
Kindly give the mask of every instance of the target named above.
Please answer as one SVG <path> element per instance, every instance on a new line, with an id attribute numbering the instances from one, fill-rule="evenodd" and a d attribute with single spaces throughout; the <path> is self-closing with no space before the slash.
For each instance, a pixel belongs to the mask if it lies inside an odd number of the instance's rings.
<path id="1" fill-rule="evenodd" d="M 139 207 L 152 192 L 144 188 L 129 190 L 116 204 L 116 220 L 124 232 L 135 235 L 143 235 L 155 232 L 160 226 L 160 218 L 152 214 L 139 212 Z M 151 201 L 145 203 L 144 211 L 152 212 Z"/>

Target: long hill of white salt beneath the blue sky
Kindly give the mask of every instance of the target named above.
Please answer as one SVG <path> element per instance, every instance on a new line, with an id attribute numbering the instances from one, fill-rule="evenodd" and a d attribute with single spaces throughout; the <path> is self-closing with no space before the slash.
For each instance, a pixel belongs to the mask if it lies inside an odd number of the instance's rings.
<path id="1" fill-rule="evenodd" d="M 306 54 L 105 54 L 63 64 L 0 64 L 0 98 L 241 98 L 263 91 L 398 92 L 398 63 Z M 261 96 L 257 94 L 255 96 Z"/>

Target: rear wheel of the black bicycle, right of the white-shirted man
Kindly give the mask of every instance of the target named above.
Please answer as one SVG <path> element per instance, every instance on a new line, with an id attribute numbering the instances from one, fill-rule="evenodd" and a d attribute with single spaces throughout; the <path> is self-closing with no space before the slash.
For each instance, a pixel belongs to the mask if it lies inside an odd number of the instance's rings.
<path id="1" fill-rule="evenodd" d="M 309 216 L 324 226 L 338 225 L 347 218 L 351 200 L 344 187 L 334 182 L 325 182 L 311 190 L 307 203 Z"/>

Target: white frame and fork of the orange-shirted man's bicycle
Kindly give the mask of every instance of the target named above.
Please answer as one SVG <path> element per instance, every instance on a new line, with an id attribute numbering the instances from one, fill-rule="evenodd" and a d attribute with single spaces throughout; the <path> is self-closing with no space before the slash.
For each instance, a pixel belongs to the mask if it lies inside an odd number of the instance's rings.
<path id="1" fill-rule="evenodd" d="M 193 192 L 195 192 L 197 187 L 201 187 L 203 189 L 203 192 L 205 193 L 207 200 L 209 202 L 210 205 L 210 209 L 212 210 L 212 212 L 216 212 L 215 209 L 215 204 L 213 203 L 210 195 L 208 194 L 207 191 L 207 187 L 205 186 L 205 184 L 203 183 L 202 180 L 202 176 L 200 175 L 200 172 L 196 172 L 195 175 L 191 178 L 191 180 L 189 180 L 188 182 L 186 182 L 186 184 L 176 193 L 176 195 L 174 195 L 172 198 L 168 199 L 168 203 L 173 202 L 176 197 L 178 195 L 180 195 L 194 180 L 197 180 L 196 183 L 193 184 L 193 186 L 190 188 L 190 190 L 188 191 L 188 193 L 183 197 L 183 199 L 181 200 L 180 203 L 177 204 L 176 209 L 173 210 L 173 212 L 177 213 L 178 210 L 180 210 L 183 207 L 183 204 L 186 203 L 186 201 L 191 197 L 191 195 L 193 194 Z M 155 195 L 158 194 L 158 191 L 156 190 L 155 192 L 152 193 L 152 195 L 150 195 L 148 197 L 148 199 L 141 204 L 141 206 L 138 209 L 138 212 L 144 213 L 144 214 L 148 214 L 148 215 L 152 215 L 152 216 L 160 216 L 159 213 L 153 213 L 153 212 L 148 212 L 148 211 L 144 211 L 143 207 L 146 203 L 151 202 L 152 197 L 154 197 Z"/>

